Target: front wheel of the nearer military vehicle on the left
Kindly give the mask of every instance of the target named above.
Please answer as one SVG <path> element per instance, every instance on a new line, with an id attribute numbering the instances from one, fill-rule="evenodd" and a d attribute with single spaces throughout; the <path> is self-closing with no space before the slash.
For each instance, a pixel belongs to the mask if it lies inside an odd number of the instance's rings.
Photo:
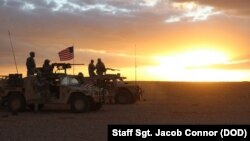
<path id="1" fill-rule="evenodd" d="M 82 95 L 74 95 L 70 102 L 71 111 L 75 113 L 85 113 L 90 109 L 89 99 Z"/>

